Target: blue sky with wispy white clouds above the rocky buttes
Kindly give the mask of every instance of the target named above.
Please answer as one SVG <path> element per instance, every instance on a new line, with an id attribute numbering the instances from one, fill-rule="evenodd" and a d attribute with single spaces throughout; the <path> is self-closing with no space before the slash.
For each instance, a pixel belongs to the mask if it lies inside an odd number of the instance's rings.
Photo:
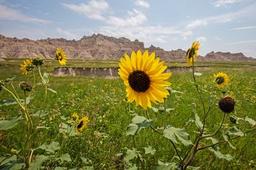
<path id="1" fill-rule="evenodd" d="M 244 53 L 256 58 L 255 0 L 0 0 L 0 34 L 81 39 L 127 37 L 165 50 Z"/>

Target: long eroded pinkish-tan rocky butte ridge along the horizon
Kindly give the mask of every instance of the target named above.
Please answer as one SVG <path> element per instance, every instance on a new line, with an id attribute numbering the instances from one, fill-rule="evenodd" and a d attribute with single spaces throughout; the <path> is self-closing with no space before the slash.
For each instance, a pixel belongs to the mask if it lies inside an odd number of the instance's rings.
<path id="1" fill-rule="evenodd" d="M 146 50 L 156 52 L 162 60 L 186 61 L 185 50 L 165 51 L 162 48 L 145 48 L 143 42 L 138 39 L 130 41 L 127 38 L 115 38 L 102 34 L 83 36 L 79 40 L 67 39 L 17 39 L 0 35 L 0 58 L 34 58 L 41 55 L 42 58 L 53 58 L 57 47 L 64 49 L 69 59 L 108 60 L 119 59 L 124 53 L 130 54 L 132 50 Z M 247 58 L 243 53 L 211 52 L 205 57 L 197 58 L 201 61 L 256 61 L 255 58 Z"/>

